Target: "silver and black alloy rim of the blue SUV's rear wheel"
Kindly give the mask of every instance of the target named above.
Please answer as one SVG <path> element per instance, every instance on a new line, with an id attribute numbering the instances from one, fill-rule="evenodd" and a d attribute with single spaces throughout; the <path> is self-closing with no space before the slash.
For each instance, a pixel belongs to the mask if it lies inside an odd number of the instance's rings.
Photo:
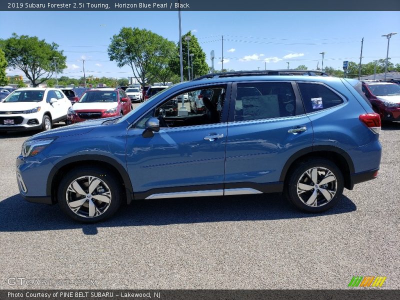
<path id="1" fill-rule="evenodd" d="M 327 168 L 316 166 L 306 170 L 297 181 L 297 196 L 308 206 L 323 206 L 337 191 L 337 179 Z"/>

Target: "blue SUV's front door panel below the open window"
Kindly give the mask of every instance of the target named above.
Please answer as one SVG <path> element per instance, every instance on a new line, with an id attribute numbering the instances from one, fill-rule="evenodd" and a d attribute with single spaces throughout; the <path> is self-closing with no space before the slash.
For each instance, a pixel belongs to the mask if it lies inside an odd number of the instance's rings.
<path id="1" fill-rule="evenodd" d="M 126 139 L 126 163 L 135 198 L 192 190 L 220 190 L 222 194 L 226 123 L 164 128 L 150 138 L 142 137 L 142 132 L 130 129 Z M 204 139 L 213 133 L 223 136 Z"/>

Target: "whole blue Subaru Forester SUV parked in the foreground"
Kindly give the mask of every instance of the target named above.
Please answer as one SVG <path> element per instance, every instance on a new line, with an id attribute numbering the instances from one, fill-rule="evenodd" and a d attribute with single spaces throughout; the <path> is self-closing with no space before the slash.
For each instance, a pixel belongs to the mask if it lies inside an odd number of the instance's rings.
<path id="1" fill-rule="evenodd" d="M 205 109 L 192 111 L 202 90 Z M 177 114 L 166 114 L 177 98 Z M 267 192 L 321 212 L 344 187 L 377 176 L 379 131 L 358 80 L 215 73 L 165 88 L 124 116 L 33 135 L 16 176 L 28 201 L 58 202 L 82 222 L 137 199 Z"/>

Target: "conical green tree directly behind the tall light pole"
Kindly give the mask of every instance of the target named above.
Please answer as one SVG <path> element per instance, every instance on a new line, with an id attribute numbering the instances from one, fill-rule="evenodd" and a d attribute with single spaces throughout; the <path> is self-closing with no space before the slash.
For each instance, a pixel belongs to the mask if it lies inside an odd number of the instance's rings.
<path id="1" fill-rule="evenodd" d="M 185 36 L 190 36 L 189 40 L 189 53 L 193 54 L 193 77 L 198 77 L 205 75 L 209 72 L 209 66 L 205 61 L 205 53 L 198 43 L 197 37 L 188 31 L 186 34 L 182 35 L 182 60 L 183 60 L 183 78 L 188 79 L 188 63 L 187 63 L 187 41 L 184 40 Z M 180 76 L 180 62 L 179 62 L 179 42 L 177 43 L 176 53 L 171 60 L 170 67 L 172 71 Z M 191 76 L 191 68 L 190 68 Z"/>

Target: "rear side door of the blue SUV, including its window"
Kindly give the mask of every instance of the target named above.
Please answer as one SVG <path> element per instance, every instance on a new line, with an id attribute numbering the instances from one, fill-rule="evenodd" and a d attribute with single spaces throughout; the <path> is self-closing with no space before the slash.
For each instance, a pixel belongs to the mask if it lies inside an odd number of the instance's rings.
<path id="1" fill-rule="evenodd" d="M 282 187 L 291 155 L 313 141 L 311 121 L 294 82 L 239 82 L 232 86 L 226 139 L 225 191 Z M 272 183 L 274 184 L 268 184 Z M 276 185 L 276 186 L 275 186 Z M 275 186 L 275 187 L 274 187 Z"/>

